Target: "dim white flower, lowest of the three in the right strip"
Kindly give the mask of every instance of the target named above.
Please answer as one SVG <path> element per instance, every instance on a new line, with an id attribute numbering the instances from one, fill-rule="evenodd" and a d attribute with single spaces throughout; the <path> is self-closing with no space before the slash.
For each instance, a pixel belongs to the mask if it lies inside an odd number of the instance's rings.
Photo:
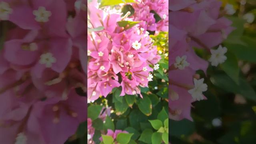
<path id="1" fill-rule="evenodd" d="M 203 92 L 205 92 L 207 90 L 207 84 L 204 84 L 204 78 L 201 78 L 199 80 L 197 80 L 196 78 L 194 78 L 194 88 L 191 90 L 188 90 L 188 93 L 190 93 L 192 95 L 192 98 L 194 100 L 203 100 L 204 96 L 203 96 Z"/>

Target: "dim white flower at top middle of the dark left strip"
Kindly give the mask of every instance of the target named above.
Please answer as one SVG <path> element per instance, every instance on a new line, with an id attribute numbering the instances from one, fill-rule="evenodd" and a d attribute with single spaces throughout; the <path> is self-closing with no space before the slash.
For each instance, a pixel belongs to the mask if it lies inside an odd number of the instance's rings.
<path id="1" fill-rule="evenodd" d="M 45 9 L 43 6 L 39 6 L 38 10 L 34 10 L 33 14 L 36 16 L 37 22 L 48 22 L 52 12 Z"/>

